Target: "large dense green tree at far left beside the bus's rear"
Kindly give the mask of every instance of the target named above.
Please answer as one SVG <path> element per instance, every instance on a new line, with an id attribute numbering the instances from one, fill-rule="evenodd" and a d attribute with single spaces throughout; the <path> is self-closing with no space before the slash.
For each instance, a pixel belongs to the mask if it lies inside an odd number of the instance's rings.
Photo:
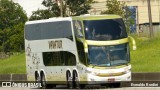
<path id="1" fill-rule="evenodd" d="M 20 51 L 20 48 L 15 49 L 15 47 L 24 44 L 23 29 L 26 21 L 27 16 L 19 4 L 12 0 L 0 0 L 1 52 Z"/>

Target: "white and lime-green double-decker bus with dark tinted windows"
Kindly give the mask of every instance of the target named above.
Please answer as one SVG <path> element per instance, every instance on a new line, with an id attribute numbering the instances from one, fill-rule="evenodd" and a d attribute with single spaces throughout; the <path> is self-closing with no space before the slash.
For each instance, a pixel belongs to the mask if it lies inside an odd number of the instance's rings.
<path id="1" fill-rule="evenodd" d="M 25 50 L 28 81 L 40 82 L 43 88 L 120 85 L 131 80 L 129 37 L 118 15 L 29 21 Z"/>

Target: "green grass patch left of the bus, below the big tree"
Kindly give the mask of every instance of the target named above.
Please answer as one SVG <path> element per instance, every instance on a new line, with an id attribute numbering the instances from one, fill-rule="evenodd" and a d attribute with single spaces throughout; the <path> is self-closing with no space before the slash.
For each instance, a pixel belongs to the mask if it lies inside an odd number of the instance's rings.
<path id="1" fill-rule="evenodd" d="M 26 73 L 25 54 L 13 55 L 0 60 L 0 74 L 24 74 Z"/>

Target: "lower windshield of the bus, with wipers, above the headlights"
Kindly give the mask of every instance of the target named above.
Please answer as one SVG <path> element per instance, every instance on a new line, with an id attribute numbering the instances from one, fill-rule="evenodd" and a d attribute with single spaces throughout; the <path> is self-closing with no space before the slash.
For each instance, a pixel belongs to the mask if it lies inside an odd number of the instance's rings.
<path id="1" fill-rule="evenodd" d="M 128 43 L 113 46 L 88 46 L 88 64 L 116 66 L 129 63 Z"/>

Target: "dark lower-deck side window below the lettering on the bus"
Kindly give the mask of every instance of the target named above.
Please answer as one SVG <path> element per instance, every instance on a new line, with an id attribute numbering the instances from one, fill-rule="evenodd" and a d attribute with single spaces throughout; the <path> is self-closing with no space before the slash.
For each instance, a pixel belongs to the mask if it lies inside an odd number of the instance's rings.
<path id="1" fill-rule="evenodd" d="M 76 58 L 67 51 L 43 52 L 43 63 L 45 66 L 74 66 Z"/>

